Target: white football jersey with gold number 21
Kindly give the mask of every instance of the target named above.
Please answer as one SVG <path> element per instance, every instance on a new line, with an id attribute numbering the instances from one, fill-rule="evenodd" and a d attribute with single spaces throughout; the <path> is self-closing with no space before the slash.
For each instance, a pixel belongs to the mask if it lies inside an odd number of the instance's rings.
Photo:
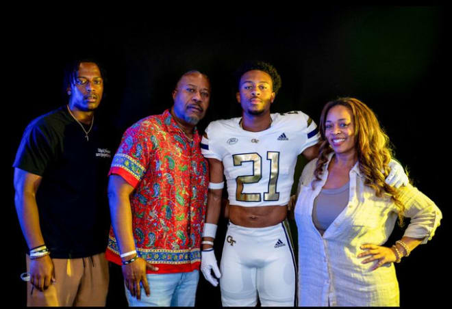
<path id="1" fill-rule="evenodd" d="M 240 117 L 210 122 L 205 129 L 201 152 L 223 162 L 231 205 L 286 205 L 298 155 L 320 138 L 314 121 L 301 111 L 271 118 L 270 128 L 260 132 L 242 129 Z"/>

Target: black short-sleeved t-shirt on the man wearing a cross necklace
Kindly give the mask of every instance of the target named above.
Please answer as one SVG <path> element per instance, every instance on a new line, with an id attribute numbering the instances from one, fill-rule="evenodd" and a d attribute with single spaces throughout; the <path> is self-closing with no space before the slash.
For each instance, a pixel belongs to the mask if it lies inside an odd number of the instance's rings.
<path id="1" fill-rule="evenodd" d="M 42 176 L 36 202 L 52 258 L 91 256 L 107 245 L 107 175 L 114 150 L 96 121 L 88 137 L 60 107 L 27 126 L 13 164 Z"/>

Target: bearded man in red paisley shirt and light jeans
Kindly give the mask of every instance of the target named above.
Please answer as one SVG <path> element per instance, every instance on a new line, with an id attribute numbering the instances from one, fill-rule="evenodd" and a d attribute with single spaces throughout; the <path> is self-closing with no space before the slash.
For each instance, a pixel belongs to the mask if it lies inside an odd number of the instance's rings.
<path id="1" fill-rule="evenodd" d="M 114 156 L 106 256 L 122 265 L 129 306 L 194 306 L 209 184 L 195 126 L 209 99 L 208 77 L 186 72 L 173 107 L 129 127 Z"/>

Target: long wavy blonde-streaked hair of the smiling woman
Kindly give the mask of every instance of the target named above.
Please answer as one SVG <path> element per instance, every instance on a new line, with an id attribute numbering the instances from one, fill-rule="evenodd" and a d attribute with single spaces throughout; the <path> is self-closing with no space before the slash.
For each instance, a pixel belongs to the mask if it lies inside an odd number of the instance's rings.
<path id="1" fill-rule="evenodd" d="M 388 195 L 397 204 L 399 209 L 399 225 L 403 225 L 403 212 L 405 206 L 399 200 L 399 190 L 385 183 L 385 178 L 390 172 L 388 163 L 392 159 L 393 150 L 390 147 L 389 137 L 379 125 L 375 113 L 356 98 L 338 98 L 328 102 L 321 114 L 320 132 L 322 137 L 318 153 L 318 161 L 314 176 L 316 181 L 321 180 L 323 168 L 328 161 L 328 154 L 333 150 L 325 137 L 325 122 L 331 107 L 342 105 L 347 107 L 352 114 L 355 129 L 357 159 L 360 172 L 364 175 L 364 185 L 375 190 L 378 197 Z M 314 181 L 312 186 L 314 187 Z"/>

